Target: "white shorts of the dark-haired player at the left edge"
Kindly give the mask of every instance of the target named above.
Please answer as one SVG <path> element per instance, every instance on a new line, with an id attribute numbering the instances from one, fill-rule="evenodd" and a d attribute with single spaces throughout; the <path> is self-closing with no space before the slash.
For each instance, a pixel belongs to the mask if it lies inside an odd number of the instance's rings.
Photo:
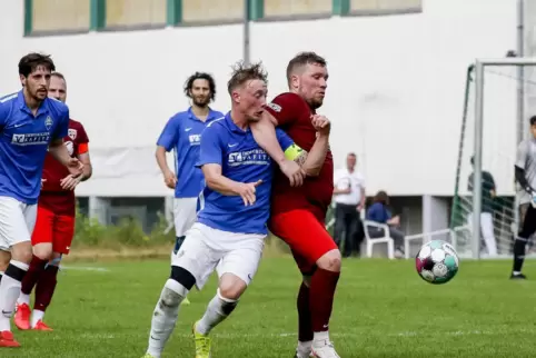
<path id="1" fill-rule="evenodd" d="M 0 250 L 31 240 L 36 226 L 37 205 L 27 205 L 14 198 L 0 197 Z"/>

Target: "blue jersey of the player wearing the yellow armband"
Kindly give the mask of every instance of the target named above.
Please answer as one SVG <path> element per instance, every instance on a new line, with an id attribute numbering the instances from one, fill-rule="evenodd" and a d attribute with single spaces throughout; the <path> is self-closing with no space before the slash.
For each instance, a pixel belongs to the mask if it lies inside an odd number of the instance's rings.
<path id="1" fill-rule="evenodd" d="M 276 132 L 284 150 L 292 147 L 292 140 L 282 130 Z M 198 166 L 208 163 L 221 166 L 222 176 L 231 180 L 262 180 L 262 183 L 256 188 L 257 200 L 248 207 L 239 196 L 224 196 L 205 187 L 199 197 L 198 221 L 224 231 L 267 235 L 272 161 L 257 145 L 251 130 L 238 128 L 230 113 L 210 123 L 202 132 Z"/>

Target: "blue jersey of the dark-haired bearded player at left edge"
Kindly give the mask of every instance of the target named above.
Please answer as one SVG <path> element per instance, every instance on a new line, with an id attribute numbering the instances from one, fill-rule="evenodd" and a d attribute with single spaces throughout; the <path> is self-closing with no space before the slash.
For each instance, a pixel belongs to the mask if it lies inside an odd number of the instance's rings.
<path id="1" fill-rule="evenodd" d="M 33 116 L 22 91 L 0 98 L 0 196 L 36 203 L 51 140 L 63 139 L 69 109 L 47 98 Z"/>

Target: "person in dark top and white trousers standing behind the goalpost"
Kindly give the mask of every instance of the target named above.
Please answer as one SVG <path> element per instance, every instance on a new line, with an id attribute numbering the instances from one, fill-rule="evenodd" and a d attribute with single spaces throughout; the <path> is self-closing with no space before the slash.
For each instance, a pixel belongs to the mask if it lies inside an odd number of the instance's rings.
<path id="1" fill-rule="evenodd" d="M 475 157 L 470 158 L 470 165 L 475 168 Z M 473 191 L 473 178 L 475 172 L 469 175 L 467 189 Z M 490 257 L 497 256 L 497 242 L 494 232 L 494 200 L 496 187 L 494 177 L 489 171 L 482 171 L 482 210 L 480 210 L 480 231 Z M 468 216 L 469 227 L 473 225 L 473 212 Z"/>

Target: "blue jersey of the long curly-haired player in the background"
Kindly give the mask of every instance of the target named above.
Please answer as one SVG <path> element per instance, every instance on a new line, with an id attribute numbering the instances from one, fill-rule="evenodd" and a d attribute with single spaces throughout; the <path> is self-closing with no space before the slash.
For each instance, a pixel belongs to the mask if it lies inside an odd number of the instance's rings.
<path id="1" fill-rule="evenodd" d="M 171 117 L 158 138 L 157 146 L 172 149 L 177 152 L 176 173 L 177 186 L 175 187 L 176 198 L 197 198 L 201 191 L 202 172 L 196 167 L 199 158 L 199 145 L 201 132 L 208 123 L 215 119 L 222 118 L 224 113 L 210 110 L 207 120 L 199 120 L 191 111 L 179 112 Z"/>

